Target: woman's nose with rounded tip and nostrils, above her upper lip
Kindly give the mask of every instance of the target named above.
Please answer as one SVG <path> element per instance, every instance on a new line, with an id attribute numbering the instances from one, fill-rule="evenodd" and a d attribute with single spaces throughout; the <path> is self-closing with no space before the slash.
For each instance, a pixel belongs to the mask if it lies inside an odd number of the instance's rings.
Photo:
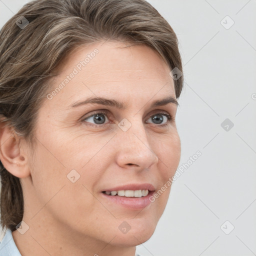
<path id="1" fill-rule="evenodd" d="M 119 130 L 116 139 L 120 141 L 116 156 L 119 166 L 143 170 L 158 162 L 158 157 L 151 148 L 156 141 L 149 138 L 143 123 L 133 123 L 127 131 Z"/>

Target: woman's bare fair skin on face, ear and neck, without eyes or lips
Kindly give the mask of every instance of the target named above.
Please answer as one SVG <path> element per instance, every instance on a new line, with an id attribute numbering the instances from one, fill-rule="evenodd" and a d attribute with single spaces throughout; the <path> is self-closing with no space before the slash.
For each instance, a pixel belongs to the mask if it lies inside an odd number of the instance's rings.
<path id="1" fill-rule="evenodd" d="M 165 112 L 175 118 L 177 106 L 151 108 L 156 99 L 175 98 L 170 68 L 146 45 L 125 46 L 106 41 L 73 51 L 52 80 L 54 89 L 93 49 L 99 52 L 38 112 L 33 151 L 9 128 L 1 131 L 0 159 L 20 178 L 24 195 L 23 221 L 29 229 L 12 232 L 22 256 L 134 256 L 135 246 L 148 240 L 163 213 L 170 186 L 142 210 L 126 209 L 102 199 L 106 187 L 151 183 L 156 191 L 172 177 L 180 159 L 175 120 L 156 123 L 150 115 Z M 99 104 L 69 107 L 91 96 L 113 98 L 125 109 Z M 67 109 L 68 108 L 68 109 Z M 105 123 L 87 118 L 105 109 Z M 123 131 L 119 121 L 131 127 Z M 100 126 L 101 125 L 101 126 Z M 4 142 L 4 143 L 3 143 Z M 75 169 L 80 178 L 66 175 Z M 123 234 L 118 226 L 127 221 Z"/>

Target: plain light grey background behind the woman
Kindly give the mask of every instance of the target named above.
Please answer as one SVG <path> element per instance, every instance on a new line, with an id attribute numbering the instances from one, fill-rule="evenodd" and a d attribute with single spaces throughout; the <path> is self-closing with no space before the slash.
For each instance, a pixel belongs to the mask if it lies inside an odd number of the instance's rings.
<path id="1" fill-rule="evenodd" d="M 201 156 L 172 184 L 154 234 L 137 251 L 256 255 L 256 0 L 148 1 L 179 39 L 179 166 Z M 0 0 L 0 27 L 25 2 Z"/>

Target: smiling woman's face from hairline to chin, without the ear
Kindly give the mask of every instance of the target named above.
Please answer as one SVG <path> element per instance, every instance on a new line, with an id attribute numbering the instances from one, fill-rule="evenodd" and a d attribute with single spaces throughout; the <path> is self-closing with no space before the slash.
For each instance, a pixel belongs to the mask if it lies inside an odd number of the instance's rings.
<path id="1" fill-rule="evenodd" d="M 152 235 L 180 159 L 170 69 L 151 48 L 125 45 L 81 46 L 65 59 L 38 112 L 32 182 L 22 184 L 34 219 L 118 246 Z"/>

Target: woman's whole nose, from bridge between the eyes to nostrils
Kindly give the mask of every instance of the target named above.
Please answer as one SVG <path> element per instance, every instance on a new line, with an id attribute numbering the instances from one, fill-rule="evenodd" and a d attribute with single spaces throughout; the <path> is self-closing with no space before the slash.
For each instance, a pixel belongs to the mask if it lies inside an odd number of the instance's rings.
<path id="1" fill-rule="evenodd" d="M 140 118 L 133 116 L 132 121 L 122 120 L 118 126 L 121 143 L 117 159 L 120 165 L 135 164 L 139 168 L 148 168 L 158 161 Z"/>

